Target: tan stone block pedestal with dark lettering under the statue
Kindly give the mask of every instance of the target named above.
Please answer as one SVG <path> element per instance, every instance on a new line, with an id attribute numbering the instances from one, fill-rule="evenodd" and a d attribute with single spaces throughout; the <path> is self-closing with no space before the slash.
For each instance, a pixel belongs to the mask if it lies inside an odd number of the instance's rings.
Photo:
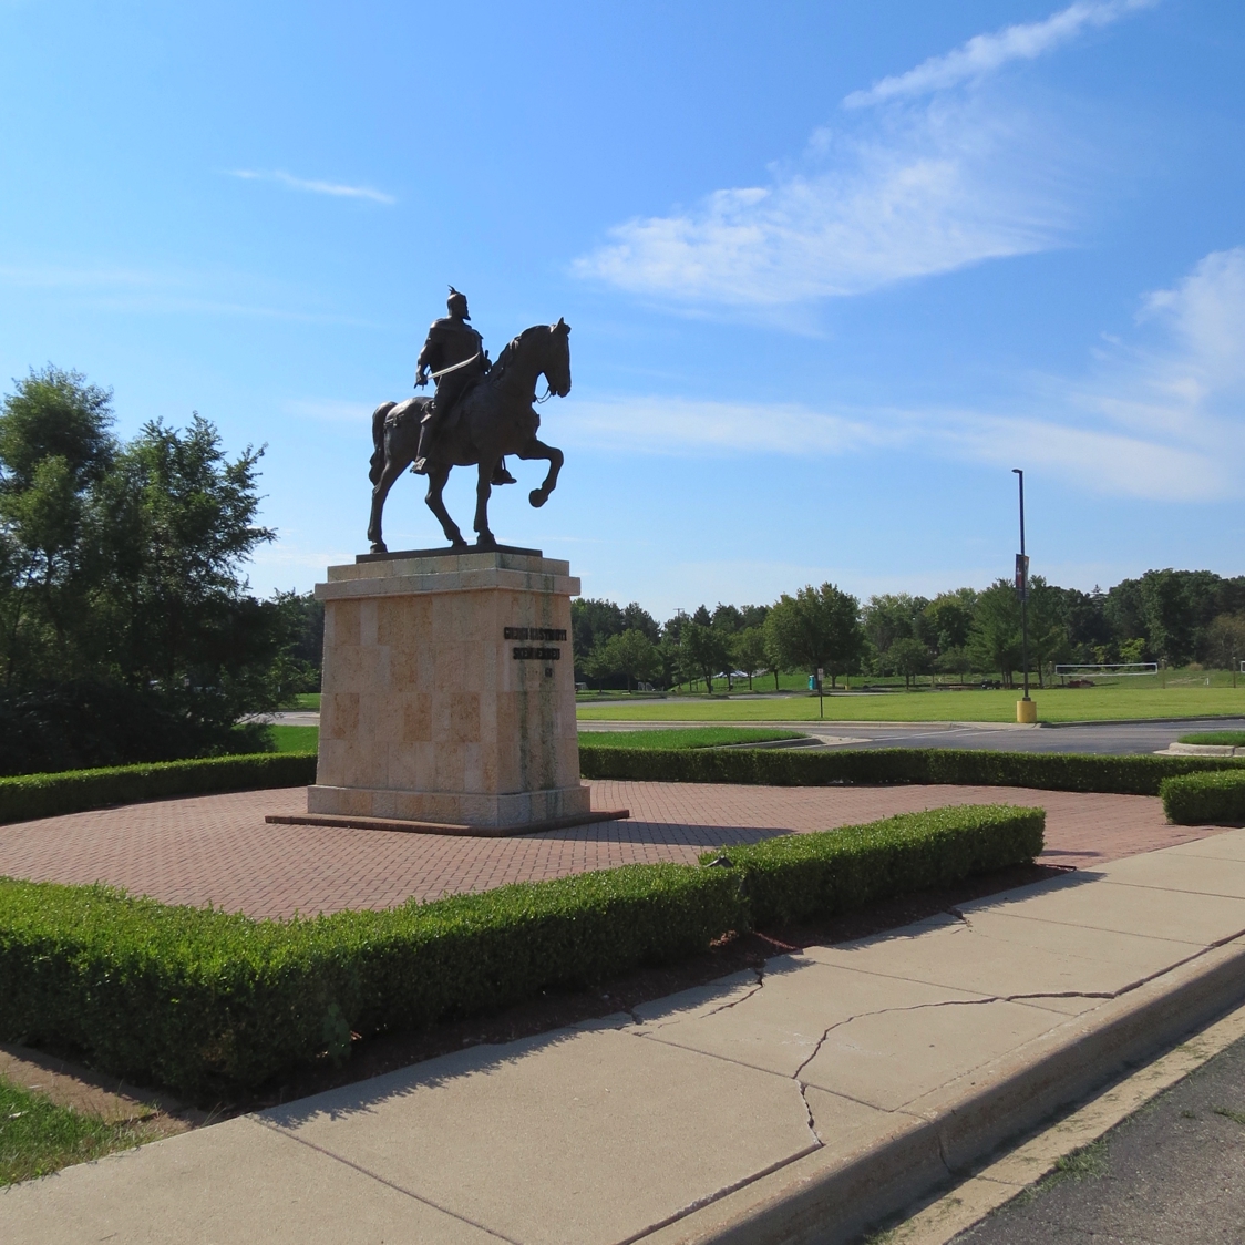
<path id="1" fill-rule="evenodd" d="M 435 552 L 330 566 L 308 812 L 482 828 L 588 819 L 570 564 Z"/>

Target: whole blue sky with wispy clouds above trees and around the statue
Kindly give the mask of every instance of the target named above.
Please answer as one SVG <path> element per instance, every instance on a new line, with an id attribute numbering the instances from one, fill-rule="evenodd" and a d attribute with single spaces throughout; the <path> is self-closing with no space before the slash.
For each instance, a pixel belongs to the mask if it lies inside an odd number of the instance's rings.
<path id="1" fill-rule="evenodd" d="M 261 593 L 366 548 L 448 283 L 494 356 L 573 327 L 493 527 L 585 594 L 981 586 L 1012 467 L 1058 583 L 1241 574 L 1243 63 L 1193 0 L 0 0 L 0 376 L 266 443 Z"/>

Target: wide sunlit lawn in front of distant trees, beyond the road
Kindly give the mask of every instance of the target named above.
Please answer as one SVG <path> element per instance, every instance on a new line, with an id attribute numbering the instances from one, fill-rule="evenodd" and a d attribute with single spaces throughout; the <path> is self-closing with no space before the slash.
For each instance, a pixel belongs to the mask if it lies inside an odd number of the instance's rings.
<path id="1" fill-rule="evenodd" d="M 825 720 L 840 722 L 1015 722 L 1018 691 L 947 691 L 825 697 Z M 1048 687 L 1032 690 L 1042 722 L 1245 716 L 1245 687 Z M 580 721 L 813 722 L 815 696 L 772 698 L 675 696 L 664 701 L 578 706 Z"/>

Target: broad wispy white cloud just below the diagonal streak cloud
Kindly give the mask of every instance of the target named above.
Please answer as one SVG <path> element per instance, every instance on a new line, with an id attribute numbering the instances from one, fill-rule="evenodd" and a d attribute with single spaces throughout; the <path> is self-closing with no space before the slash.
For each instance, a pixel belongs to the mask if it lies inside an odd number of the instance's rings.
<path id="1" fill-rule="evenodd" d="M 822 131 L 807 168 L 620 224 L 574 270 L 634 294 L 774 308 L 1041 250 L 1068 214 L 1007 153 L 1043 146 L 962 107 L 880 133 Z"/>

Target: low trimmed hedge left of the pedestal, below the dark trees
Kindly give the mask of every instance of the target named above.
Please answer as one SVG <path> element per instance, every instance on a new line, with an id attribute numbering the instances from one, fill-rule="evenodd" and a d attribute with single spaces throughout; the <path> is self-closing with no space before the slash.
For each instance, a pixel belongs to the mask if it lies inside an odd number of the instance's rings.
<path id="1" fill-rule="evenodd" d="M 70 769 L 59 774 L 17 774 L 0 778 L 0 823 L 169 796 L 303 787 L 315 782 L 315 762 L 314 752 L 256 752 L 111 769 Z"/>

